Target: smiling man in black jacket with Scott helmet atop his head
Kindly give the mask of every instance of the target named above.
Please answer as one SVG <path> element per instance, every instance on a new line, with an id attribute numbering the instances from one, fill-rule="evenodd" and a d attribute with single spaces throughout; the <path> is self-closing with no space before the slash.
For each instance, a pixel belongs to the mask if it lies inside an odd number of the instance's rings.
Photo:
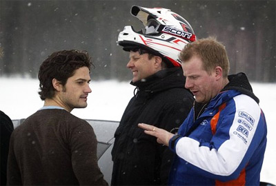
<path id="1" fill-rule="evenodd" d="M 136 88 L 115 132 L 111 185 L 166 185 L 173 154 L 137 124 L 176 133 L 188 115 L 194 99 L 184 87 L 178 55 L 195 34 L 188 21 L 165 8 L 132 6 L 131 14 L 145 28 L 126 26 L 118 37 L 130 52 L 127 68 Z"/>

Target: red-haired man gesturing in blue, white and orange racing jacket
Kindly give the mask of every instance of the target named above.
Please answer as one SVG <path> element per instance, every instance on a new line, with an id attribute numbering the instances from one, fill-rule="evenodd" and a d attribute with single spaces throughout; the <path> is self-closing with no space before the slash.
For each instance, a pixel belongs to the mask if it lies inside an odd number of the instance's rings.
<path id="1" fill-rule="evenodd" d="M 139 124 L 177 155 L 168 184 L 259 185 L 267 128 L 246 75 L 228 76 L 224 45 L 213 38 L 187 45 L 180 58 L 195 104 L 178 134 Z"/>

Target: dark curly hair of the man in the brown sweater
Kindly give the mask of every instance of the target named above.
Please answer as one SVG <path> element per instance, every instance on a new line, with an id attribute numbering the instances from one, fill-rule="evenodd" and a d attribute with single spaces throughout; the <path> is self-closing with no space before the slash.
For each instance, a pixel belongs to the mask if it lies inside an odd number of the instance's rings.
<path id="1" fill-rule="evenodd" d="M 66 85 L 68 78 L 75 74 L 75 70 L 87 67 L 90 72 L 91 58 L 86 51 L 61 50 L 54 52 L 43 61 L 39 68 L 39 96 L 42 101 L 55 95 L 52 79 L 57 79 L 61 85 Z"/>

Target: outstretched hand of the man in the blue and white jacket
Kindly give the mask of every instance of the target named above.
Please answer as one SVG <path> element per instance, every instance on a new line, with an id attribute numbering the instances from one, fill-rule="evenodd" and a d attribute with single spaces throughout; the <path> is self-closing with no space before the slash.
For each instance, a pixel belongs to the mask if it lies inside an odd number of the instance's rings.
<path id="1" fill-rule="evenodd" d="M 166 130 L 160 129 L 158 127 L 155 127 L 153 125 L 139 123 L 138 127 L 140 127 L 141 129 L 144 129 L 146 134 L 148 134 L 150 136 L 157 137 L 157 143 L 161 143 L 166 146 L 168 146 L 170 138 L 172 138 L 172 136 L 174 136 L 174 134 L 172 134 Z"/>

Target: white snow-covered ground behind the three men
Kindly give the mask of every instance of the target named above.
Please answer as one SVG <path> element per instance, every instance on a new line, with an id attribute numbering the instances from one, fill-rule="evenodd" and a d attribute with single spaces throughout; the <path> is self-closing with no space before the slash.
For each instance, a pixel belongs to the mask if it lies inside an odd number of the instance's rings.
<path id="1" fill-rule="evenodd" d="M 268 125 L 268 143 L 261 180 L 276 185 L 276 83 L 252 83 Z M 134 87 L 128 82 L 95 81 L 90 84 L 88 107 L 75 109 L 79 118 L 119 121 Z M 26 118 L 43 106 L 37 94 L 39 81 L 34 79 L 0 78 L 0 110 L 12 119 Z"/>

